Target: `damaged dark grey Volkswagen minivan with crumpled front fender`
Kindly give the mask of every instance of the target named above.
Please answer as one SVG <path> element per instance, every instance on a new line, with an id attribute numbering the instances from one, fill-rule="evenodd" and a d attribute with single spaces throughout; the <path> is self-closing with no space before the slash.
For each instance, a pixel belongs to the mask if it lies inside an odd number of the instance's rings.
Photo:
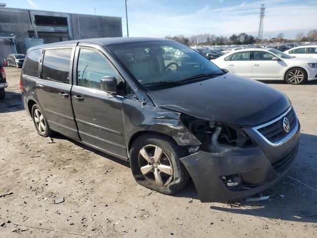
<path id="1" fill-rule="evenodd" d="M 129 161 L 138 183 L 164 194 L 192 178 L 202 202 L 243 198 L 276 183 L 296 158 L 300 124 L 283 93 L 175 41 L 36 46 L 20 85 L 41 136 L 56 131 Z"/>

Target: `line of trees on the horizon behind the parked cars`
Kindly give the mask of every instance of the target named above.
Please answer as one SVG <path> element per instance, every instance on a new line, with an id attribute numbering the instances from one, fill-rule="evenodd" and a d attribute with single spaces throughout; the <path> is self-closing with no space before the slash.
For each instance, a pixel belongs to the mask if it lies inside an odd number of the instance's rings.
<path id="1" fill-rule="evenodd" d="M 294 40 L 284 39 L 284 33 L 277 34 L 276 37 L 270 39 L 263 39 L 261 42 L 259 39 L 246 33 L 240 33 L 238 35 L 232 34 L 230 37 L 216 36 L 214 34 L 199 34 L 191 37 L 185 37 L 184 35 L 178 36 L 165 36 L 165 39 L 171 39 L 183 43 L 185 45 L 197 46 L 197 45 L 250 45 L 254 43 L 287 43 L 294 42 Z M 296 42 L 312 41 L 317 42 L 317 30 L 313 29 L 309 31 L 306 36 L 300 32 L 295 37 Z"/>

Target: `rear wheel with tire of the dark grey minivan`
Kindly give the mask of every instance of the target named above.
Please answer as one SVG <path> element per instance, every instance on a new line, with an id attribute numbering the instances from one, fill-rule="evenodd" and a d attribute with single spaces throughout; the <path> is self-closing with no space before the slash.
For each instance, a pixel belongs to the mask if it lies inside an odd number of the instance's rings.
<path id="1" fill-rule="evenodd" d="M 52 135 L 52 130 L 45 118 L 44 114 L 42 113 L 42 109 L 39 105 L 34 104 L 32 107 L 32 119 L 35 125 L 35 128 L 39 135 L 48 137 Z"/>

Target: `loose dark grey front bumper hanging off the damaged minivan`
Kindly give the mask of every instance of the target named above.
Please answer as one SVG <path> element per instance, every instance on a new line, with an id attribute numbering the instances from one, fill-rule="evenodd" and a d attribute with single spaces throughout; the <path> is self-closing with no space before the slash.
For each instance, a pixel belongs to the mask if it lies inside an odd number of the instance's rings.
<path id="1" fill-rule="evenodd" d="M 284 177 L 295 162 L 300 125 L 287 142 L 279 146 L 267 144 L 252 129 L 245 132 L 257 146 L 236 147 L 221 153 L 199 151 L 181 158 L 191 175 L 202 202 L 223 202 L 241 199 L 261 192 Z M 277 166 L 279 165 L 278 169 Z M 223 176 L 239 175 L 242 186 L 232 189 Z"/>

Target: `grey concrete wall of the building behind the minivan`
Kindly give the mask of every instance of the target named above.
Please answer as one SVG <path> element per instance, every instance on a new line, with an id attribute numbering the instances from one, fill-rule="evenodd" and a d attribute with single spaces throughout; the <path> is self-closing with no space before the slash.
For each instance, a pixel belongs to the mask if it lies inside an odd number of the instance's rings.
<path id="1" fill-rule="evenodd" d="M 62 29 L 63 27 L 37 26 L 35 24 L 34 15 L 67 17 L 68 26 L 64 29 Z M 122 23 L 121 17 L 0 7 L 0 36 L 7 37 L 10 36 L 10 34 L 14 34 L 16 37 L 17 53 L 26 53 L 27 49 L 25 47 L 24 39 L 29 38 L 28 31 L 34 31 L 34 33 L 30 35 L 34 35 L 35 38 L 40 38 L 37 37 L 37 32 L 42 32 L 42 34 L 39 34 L 40 36 L 49 34 L 49 32 L 52 32 L 52 35 L 57 34 L 57 32 L 60 32 L 62 35 L 66 33 L 69 40 L 122 37 Z M 65 40 L 66 38 L 63 36 L 61 38 L 56 37 L 55 39 Z M 3 58 L 3 56 L 0 56 L 0 59 L 1 58 Z"/>

